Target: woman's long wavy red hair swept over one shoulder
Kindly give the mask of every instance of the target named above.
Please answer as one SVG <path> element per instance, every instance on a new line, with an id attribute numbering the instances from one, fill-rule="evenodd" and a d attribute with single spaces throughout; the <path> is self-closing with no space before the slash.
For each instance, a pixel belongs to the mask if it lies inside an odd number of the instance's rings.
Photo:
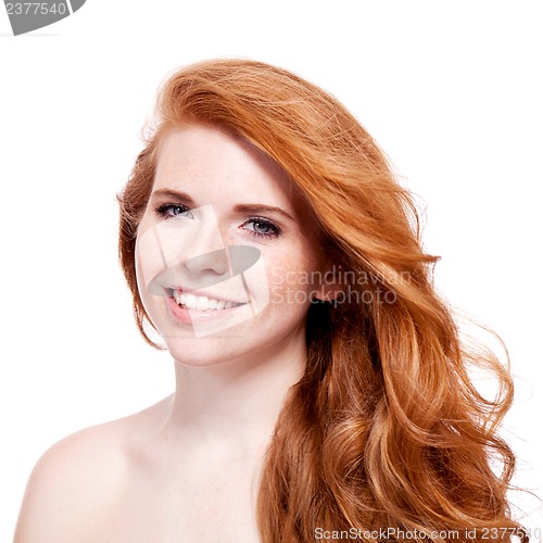
<path id="1" fill-rule="evenodd" d="M 307 315 L 305 375 L 277 420 L 261 480 L 263 541 L 314 541 L 325 530 L 488 541 L 520 530 L 506 500 L 515 456 L 496 433 L 512 378 L 494 355 L 462 344 L 432 287 L 437 258 L 421 249 L 411 194 L 353 115 L 285 70 L 215 60 L 174 73 L 156 118 L 119 195 L 121 262 L 149 342 L 137 228 L 162 136 L 184 122 L 226 128 L 270 156 L 314 210 L 337 273 L 363 278 L 350 281 L 344 303 Z M 469 365 L 494 372 L 495 400 L 479 394 Z"/>

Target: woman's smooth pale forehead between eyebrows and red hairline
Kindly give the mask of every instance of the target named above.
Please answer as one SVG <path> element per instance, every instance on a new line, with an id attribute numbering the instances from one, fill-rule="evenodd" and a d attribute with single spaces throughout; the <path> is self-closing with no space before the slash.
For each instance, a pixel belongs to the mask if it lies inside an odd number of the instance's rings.
<path id="1" fill-rule="evenodd" d="M 242 138 L 204 125 L 175 127 L 163 137 L 153 189 L 165 188 L 190 193 L 199 205 L 240 199 L 291 210 L 300 204 L 294 185 L 272 159 Z"/>

